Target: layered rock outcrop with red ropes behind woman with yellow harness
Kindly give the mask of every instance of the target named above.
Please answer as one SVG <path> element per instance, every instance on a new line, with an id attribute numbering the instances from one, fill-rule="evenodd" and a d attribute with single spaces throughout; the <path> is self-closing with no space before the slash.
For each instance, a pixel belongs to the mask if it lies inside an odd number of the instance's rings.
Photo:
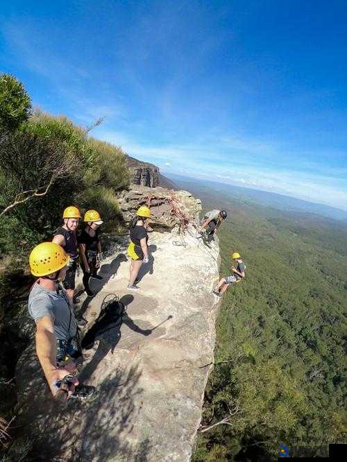
<path id="1" fill-rule="evenodd" d="M 172 191 L 157 187 L 133 185 L 130 191 L 122 191 L 118 196 L 121 212 L 128 224 L 140 205 L 151 207 L 151 226 L 155 230 L 172 230 L 180 227 L 182 221 L 194 225 L 198 223 L 201 201 L 187 191 Z"/>

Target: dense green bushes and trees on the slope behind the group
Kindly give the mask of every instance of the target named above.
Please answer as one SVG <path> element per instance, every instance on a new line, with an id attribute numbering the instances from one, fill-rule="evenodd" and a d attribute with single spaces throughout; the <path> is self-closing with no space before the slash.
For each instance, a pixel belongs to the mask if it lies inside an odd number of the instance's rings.
<path id="1" fill-rule="evenodd" d="M 15 255 L 24 262 L 51 236 L 67 205 L 96 208 L 105 221 L 120 219 L 114 193 L 128 187 L 129 178 L 119 147 L 93 139 L 66 117 L 32 112 L 12 76 L 0 77 L 0 111 L 2 259 Z"/>

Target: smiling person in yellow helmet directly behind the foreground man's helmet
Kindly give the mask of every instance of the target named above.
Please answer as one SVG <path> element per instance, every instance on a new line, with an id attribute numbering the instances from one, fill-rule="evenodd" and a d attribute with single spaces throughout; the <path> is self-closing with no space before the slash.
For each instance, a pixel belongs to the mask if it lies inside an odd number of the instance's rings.
<path id="1" fill-rule="evenodd" d="M 67 291 L 67 296 L 74 303 L 75 276 L 78 262 L 76 230 L 81 219 L 80 211 L 73 205 L 67 207 L 62 214 L 62 219 L 64 224 L 54 231 L 52 242 L 62 246 L 70 257 L 65 280 L 62 281 L 62 284 Z"/>

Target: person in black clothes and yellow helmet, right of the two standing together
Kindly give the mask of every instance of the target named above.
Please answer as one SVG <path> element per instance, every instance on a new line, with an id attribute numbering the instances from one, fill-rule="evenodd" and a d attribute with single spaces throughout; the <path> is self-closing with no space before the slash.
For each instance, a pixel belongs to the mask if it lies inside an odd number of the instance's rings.
<path id="1" fill-rule="evenodd" d="M 103 224 L 99 212 L 96 210 L 88 210 L 84 216 L 85 228 L 78 236 L 78 246 L 80 250 L 80 262 L 83 271 L 83 286 L 87 296 L 92 297 L 94 293 L 90 290 L 90 277 L 102 280 L 102 277 L 97 274 L 100 267 L 100 229 Z"/>

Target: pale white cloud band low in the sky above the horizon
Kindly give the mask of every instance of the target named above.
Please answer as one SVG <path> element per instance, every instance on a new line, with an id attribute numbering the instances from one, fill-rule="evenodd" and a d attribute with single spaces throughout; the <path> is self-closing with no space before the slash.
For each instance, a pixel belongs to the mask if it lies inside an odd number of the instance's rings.
<path id="1" fill-rule="evenodd" d="M 124 150 L 134 157 L 147 162 L 162 164 L 168 157 L 175 168 L 173 173 L 185 173 L 196 178 L 208 177 L 222 182 L 244 187 L 272 191 L 303 200 L 323 203 L 332 207 L 347 209 L 347 188 L 343 180 L 330 176 L 329 170 L 325 176 L 319 171 L 292 171 L 280 166 L 269 166 L 260 160 L 247 162 L 245 157 L 226 156 L 217 151 L 218 146 L 206 144 L 178 144 L 164 146 L 148 146 L 133 142 L 122 133 L 103 132 L 102 139 L 115 144 L 121 144 Z"/>

